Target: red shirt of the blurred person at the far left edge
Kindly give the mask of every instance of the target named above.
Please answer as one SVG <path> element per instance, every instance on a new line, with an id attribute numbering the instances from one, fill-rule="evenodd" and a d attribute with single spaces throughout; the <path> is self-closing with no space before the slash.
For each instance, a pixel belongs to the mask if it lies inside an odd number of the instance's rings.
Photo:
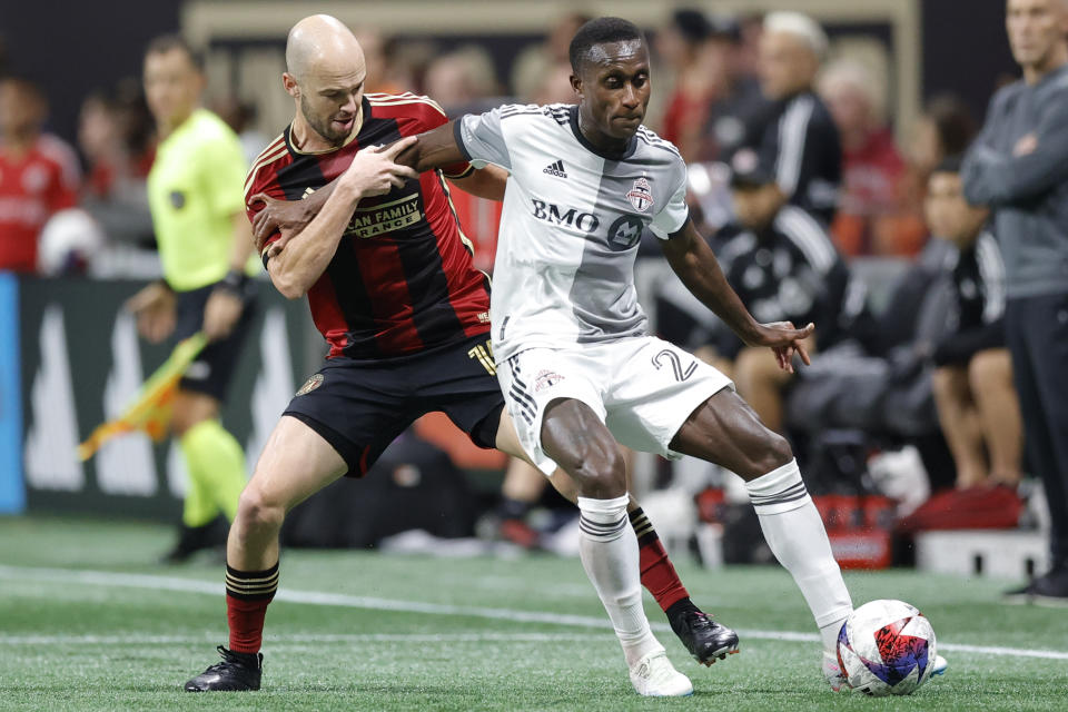
<path id="1" fill-rule="evenodd" d="M 0 269 L 37 271 L 37 239 L 48 218 L 78 204 L 73 150 L 41 136 L 29 151 L 0 146 Z"/>

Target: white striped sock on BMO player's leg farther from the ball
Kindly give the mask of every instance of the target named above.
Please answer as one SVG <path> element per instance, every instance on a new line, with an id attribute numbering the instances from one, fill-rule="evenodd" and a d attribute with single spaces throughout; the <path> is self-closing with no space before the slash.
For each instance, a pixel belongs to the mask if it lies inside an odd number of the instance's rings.
<path id="1" fill-rule="evenodd" d="M 642 607 L 637 537 L 626 518 L 627 495 L 578 497 L 578 555 L 623 646 L 627 668 L 663 650 Z"/>

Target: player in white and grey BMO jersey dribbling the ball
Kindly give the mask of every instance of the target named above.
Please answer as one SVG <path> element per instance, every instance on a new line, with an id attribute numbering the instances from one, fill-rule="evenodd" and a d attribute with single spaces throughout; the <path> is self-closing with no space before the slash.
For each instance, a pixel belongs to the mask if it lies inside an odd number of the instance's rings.
<path id="1" fill-rule="evenodd" d="M 683 284 L 748 345 L 792 372 L 809 324 L 759 324 L 689 218 L 686 168 L 641 122 L 650 97 L 641 31 L 619 18 L 583 26 L 571 44 L 577 106 L 506 106 L 465 116 L 402 152 L 429 170 L 461 160 L 511 171 L 491 318 L 501 387 L 527 455 L 578 486 L 581 557 L 643 694 L 690 694 L 642 611 L 637 545 L 626 526 L 619 443 L 691 455 L 745 479 L 769 546 L 809 604 L 823 673 L 843 684 L 835 645 L 852 611 L 823 523 L 790 445 L 721 373 L 645 333 L 633 266 L 649 228 Z"/>

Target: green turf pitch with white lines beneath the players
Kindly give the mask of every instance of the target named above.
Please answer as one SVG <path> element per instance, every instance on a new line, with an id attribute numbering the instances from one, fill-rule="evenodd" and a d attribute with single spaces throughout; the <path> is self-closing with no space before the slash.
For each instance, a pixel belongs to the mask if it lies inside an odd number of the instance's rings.
<path id="1" fill-rule="evenodd" d="M 742 633 L 742 654 L 711 669 L 659 632 L 695 693 L 643 700 L 606 627 L 479 617 L 487 609 L 606 620 L 577 561 L 441 560 L 364 552 L 287 552 L 267 617 L 264 690 L 192 695 L 181 683 L 225 642 L 220 566 L 154 565 L 169 528 L 0 518 L 0 710 L 1065 710 L 1068 660 L 949 645 L 1068 649 L 1068 612 L 1006 606 L 1007 582 L 898 571 L 849 574 L 854 601 L 920 606 L 947 645 L 949 674 L 916 695 L 834 695 L 790 577 L 778 568 L 680 566 L 698 603 Z M 102 572 L 89 580 L 76 570 Z M 127 578 L 116 578 L 116 574 Z M 137 585 L 129 585 L 137 584 Z M 144 587 L 161 586 L 162 590 Z M 178 590 L 204 586 L 216 593 Z M 349 605 L 314 604 L 314 595 Z M 406 610 L 353 603 L 404 602 Z M 408 605 L 411 604 L 411 605 Z M 419 612 L 419 604 L 452 606 Z M 650 619 L 664 619 L 647 601 Z M 746 637 L 745 633 L 750 632 Z"/>

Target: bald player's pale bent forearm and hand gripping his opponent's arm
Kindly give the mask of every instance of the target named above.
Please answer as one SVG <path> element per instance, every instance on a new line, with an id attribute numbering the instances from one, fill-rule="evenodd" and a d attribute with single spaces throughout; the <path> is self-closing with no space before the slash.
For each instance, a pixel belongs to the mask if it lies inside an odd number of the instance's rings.
<path id="1" fill-rule="evenodd" d="M 278 291 L 289 299 L 307 294 L 334 258 L 362 198 L 389 192 L 406 180 L 419 177 L 412 168 L 395 162 L 397 155 L 414 140 L 405 138 L 386 148 L 359 151 L 307 227 L 291 236 L 285 249 L 280 249 L 277 241 L 268 246 L 267 271 Z"/>

